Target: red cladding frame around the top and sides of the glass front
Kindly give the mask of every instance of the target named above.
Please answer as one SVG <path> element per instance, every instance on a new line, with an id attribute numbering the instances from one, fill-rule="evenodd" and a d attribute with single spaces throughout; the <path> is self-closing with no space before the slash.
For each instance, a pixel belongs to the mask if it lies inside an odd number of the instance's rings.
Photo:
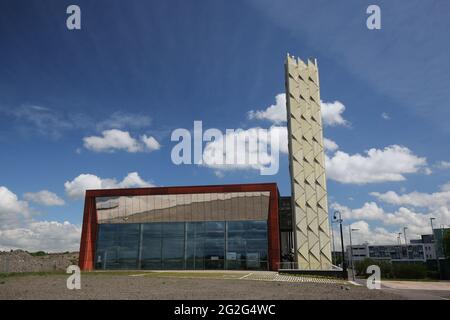
<path id="1" fill-rule="evenodd" d="M 278 218 L 279 194 L 276 183 L 87 190 L 84 202 L 83 230 L 81 232 L 79 266 L 81 270 L 84 271 L 91 271 L 94 269 L 95 243 L 98 230 L 97 211 L 95 205 L 96 197 L 255 191 L 270 192 L 269 217 L 267 220 L 269 242 L 269 269 L 277 271 L 278 265 L 280 263 L 280 229 Z"/>

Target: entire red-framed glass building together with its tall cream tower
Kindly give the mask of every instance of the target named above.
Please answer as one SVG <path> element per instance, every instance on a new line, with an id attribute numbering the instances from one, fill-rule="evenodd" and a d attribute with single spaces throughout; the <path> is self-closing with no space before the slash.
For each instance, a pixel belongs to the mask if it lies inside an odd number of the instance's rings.
<path id="1" fill-rule="evenodd" d="M 285 71 L 291 197 L 274 183 L 88 190 L 80 267 L 332 271 L 317 61 L 288 55 Z"/>

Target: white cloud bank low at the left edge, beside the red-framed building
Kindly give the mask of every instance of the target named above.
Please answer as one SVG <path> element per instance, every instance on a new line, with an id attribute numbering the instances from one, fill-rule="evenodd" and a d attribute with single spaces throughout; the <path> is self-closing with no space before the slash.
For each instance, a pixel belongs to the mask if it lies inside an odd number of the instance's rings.
<path id="1" fill-rule="evenodd" d="M 81 227 L 69 222 L 36 221 L 26 201 L 0 187 L 0 250 L 78 250 Z"/>

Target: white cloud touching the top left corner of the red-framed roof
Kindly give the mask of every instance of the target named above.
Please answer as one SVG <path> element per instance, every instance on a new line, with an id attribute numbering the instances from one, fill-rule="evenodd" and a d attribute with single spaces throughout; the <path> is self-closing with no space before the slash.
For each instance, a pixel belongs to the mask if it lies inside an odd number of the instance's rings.
<path id="1" fill-rule="evenodd" d="M 80 174 L 72 181 L 66 181 L 64 183 L 66 193 L 72 199 L 83 198 L 86 190 L 151 186 L 153 185 L 150 182 L 143 180 L 137 172 L 129 173 L 120 182 L 116 179 L 102 179 L 93 174 Z"/>

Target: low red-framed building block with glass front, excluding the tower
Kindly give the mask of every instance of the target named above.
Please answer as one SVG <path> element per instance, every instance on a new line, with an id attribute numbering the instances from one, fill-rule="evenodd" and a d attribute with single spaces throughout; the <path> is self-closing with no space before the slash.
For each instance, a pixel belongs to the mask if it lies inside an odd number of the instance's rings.
<path id="1" fill-rule="evenodd" d="M 278 270 L 275 183 L 86 191 L 79 265 Z"/>

